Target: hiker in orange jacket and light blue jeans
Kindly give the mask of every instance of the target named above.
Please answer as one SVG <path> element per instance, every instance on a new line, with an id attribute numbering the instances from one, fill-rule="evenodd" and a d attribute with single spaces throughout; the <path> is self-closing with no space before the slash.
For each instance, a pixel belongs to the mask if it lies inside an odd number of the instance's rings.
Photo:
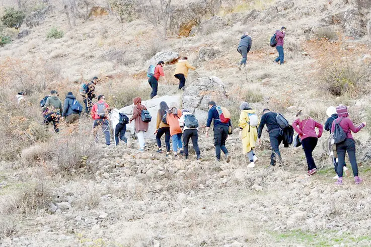
<path id="1" fill-rule="evenodd" d="M 173 151 L 174 157 L 179 154 L 183 155 L 183 142 L 182 142 L 182 129 L 180 128 L 179 119 L 182 116 L 182 111 L 176 107 L 176 104 L 173 103 L 168 112 L 166 113 L 166 122 L 170 126 L 170 135 L 173 140 Z M 178 150 L 179 149 L 179 150 Z"/>

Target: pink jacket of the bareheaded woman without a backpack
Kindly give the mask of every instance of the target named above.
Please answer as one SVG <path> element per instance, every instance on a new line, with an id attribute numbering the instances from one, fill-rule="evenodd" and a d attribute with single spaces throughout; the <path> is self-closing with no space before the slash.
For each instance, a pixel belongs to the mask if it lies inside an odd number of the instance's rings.
<path id="1" fill-rule="evenodd" d="M 295 129 L 296 133 L 299 134 L 301 140 L 308 137 L 320 138 L 323 132 L 323 125 L 316 122 L 313 118 L 301 122 L 299 119 L 296 119 L 293 121 L 292 127 Z M 318 135 L 316 133 L 316 128 L 319 130 Z"/>

